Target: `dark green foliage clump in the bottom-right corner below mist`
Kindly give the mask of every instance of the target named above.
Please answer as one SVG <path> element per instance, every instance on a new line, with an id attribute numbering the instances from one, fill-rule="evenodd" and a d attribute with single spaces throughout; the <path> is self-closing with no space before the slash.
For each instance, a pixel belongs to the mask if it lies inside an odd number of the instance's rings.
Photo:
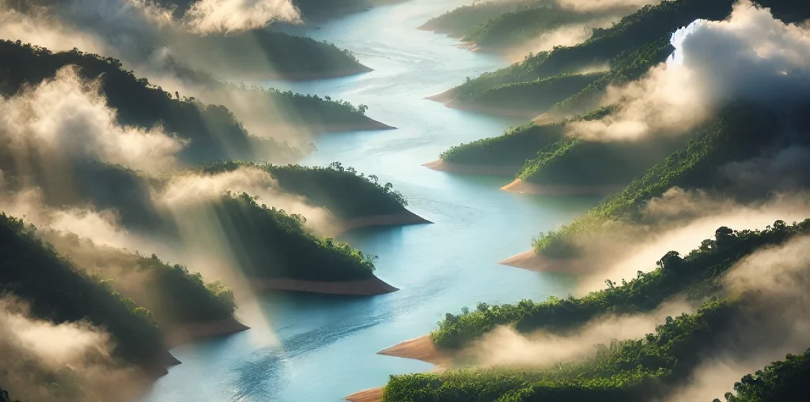
<path id="1" fill-rule="evenodd" d="M 728 402 L 771 402 L 774 400 L 807 400 L 810 397 L 810 349 L 799 355 L 788 354 L 765 370 L 744 376 L 727 393 Z M 718 402 L 718 400 L 715 400 Z"/>

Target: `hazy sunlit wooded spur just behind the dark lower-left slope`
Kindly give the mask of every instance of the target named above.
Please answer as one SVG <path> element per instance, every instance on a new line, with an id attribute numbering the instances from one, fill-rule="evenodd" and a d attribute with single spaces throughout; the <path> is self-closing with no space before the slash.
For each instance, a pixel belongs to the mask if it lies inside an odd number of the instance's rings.
<path id="1" fill-rule="evenodd" d="M 200 273 L 164 263 L 154 254 L 130 254 L 76 235 L 44 231 L 40 236 L 93 277 L 149 309 L 161 328 L 227 319 L 236 308 L 227 287 L 206 284 Z"/>

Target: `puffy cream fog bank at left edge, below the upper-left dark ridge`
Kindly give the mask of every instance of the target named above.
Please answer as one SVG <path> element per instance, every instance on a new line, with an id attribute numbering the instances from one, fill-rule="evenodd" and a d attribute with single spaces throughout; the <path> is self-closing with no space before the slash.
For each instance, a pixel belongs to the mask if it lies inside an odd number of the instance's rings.
<path id="1" fill-rule="evenodd" d="M 185 141 L 161 129 L 118 125 L 116 112 L 100 95 L 99 83 L 85 82 L 75 67 L 56 78 L 0 99 L 0 142 L 17 171 L 45 166 L 56 179 L 71 162 L 98 159 L 147 172 L 172 171 Z"/>

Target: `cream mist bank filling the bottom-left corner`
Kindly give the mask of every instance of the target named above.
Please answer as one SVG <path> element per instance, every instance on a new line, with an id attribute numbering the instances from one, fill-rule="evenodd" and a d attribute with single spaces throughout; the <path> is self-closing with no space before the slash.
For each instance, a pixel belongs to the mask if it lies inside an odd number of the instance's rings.
<path id="1" fill-rule="evenodd" d="M 36 319 L 27 303 L 0 298 L 0 383 L 32 402 L 107 402 L 136 396 L 147 379 L 113 357 L 109 334 L 83 322 Z"/>

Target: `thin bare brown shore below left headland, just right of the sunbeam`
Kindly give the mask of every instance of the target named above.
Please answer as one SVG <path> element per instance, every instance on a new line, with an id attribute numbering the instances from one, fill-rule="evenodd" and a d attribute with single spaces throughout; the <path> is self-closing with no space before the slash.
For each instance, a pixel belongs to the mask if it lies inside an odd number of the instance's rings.
<path id="1" fill-rule="evenodd" d="M 382 279 L 372 276 L 361 281 L 301 281 L 297 279 L 252 279 L 256 290 L 287 290 L 319 294 L 341 294 L 347 296 L 373 296 L 392 293 L 399 288 L 390 286 Z"/>

